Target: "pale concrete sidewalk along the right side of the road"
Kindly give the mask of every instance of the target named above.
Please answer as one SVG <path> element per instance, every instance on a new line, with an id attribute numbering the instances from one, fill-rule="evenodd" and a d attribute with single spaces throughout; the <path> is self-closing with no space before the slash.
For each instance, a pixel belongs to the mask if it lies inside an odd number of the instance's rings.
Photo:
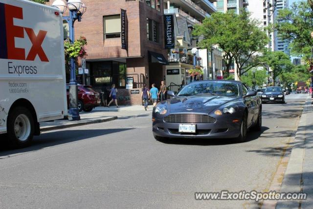
<path id="1" fill-rule="evenodd" d="M 307 97 L 295 135 L 281 192 L 307 193 L 305 201 L 279 201 L 277 209 L 313 208 L 313 99 Z"/>

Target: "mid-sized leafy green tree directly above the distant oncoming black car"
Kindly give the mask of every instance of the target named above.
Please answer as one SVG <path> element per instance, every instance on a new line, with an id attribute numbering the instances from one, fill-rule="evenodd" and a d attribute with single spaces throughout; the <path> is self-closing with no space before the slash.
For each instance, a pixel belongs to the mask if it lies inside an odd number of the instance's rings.
<path id="1" fill-rule="evenodd" d="M 274 79 L 282 73 L 289 72 L 293 67 L 289 56 L 283 51 L 266 51 L 261 60 L 273 70 Z"/>

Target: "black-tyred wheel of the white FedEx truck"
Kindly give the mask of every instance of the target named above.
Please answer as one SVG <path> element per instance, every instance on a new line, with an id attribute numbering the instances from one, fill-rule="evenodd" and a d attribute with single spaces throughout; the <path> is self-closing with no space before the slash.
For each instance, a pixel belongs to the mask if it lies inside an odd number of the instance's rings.
<path id="1" fill-rule="evenodd" d="M 33 140 L 34 124 L 34 118 L 28 109 L 14 108 L 7 120 L 7 140 L 10 147 L 29 146 Z"/>

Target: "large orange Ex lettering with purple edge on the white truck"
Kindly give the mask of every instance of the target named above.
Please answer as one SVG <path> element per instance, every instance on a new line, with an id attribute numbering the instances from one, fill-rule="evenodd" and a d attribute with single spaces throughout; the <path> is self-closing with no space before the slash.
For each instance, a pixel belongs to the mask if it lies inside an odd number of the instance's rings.
<path id="1" fill-rule="evenodd" d="M 14 25 L 14 18 L 23 19 L 22 8 L 0 3 L 0 59 L 34 61 L 38 55 L 42 62 L 49 62 L 41 46 L 47 31 L 40 30 L 36 35 L 32 28 Z M 15 47 L 15 38 L 24 38 L 24 29 L 32 43 L 27 56 L 24 48 Z"/>

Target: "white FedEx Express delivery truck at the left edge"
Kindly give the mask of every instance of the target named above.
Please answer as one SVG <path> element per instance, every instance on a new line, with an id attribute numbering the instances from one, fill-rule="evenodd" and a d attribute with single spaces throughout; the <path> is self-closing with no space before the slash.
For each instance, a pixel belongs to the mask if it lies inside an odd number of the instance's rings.
<path id="1" fill-rule="evenodd" d="M 28 0 L 0 0 L 0 137 L 15 148 L 28 146 L 40 134 L 40 122 L 65 115 L 59 10 Z"/>

